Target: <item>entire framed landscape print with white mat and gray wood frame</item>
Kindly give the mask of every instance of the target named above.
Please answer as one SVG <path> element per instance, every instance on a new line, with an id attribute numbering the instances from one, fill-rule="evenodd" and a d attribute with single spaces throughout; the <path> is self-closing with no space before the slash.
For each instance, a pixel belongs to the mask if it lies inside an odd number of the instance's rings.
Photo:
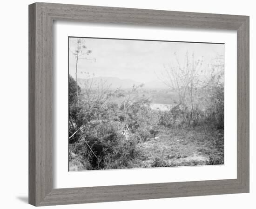
<path id="1" fill-rule="evenodd" d="M 249 192 L 249 17 L 29 5 L 29 203 Z"/>

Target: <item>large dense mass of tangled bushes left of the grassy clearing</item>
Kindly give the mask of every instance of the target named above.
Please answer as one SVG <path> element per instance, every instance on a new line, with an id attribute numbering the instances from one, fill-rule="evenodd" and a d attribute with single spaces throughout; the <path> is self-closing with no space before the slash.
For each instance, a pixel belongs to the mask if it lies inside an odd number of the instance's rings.
<path id="1" fill-rule="evenodd" d="M 70 80 L 73 86 L 72 77 Z M 70 135 L 79 130 L 71 135 L 70 151 L 87 162 L 87 170 L 126 168 L 140 155 L 136 144 L 146 135 L 142 125 L 148 124 L 143 121 L 150 111 L 149 107 L 144 107 L 148 100 L 126 98 L 119 107 L 109 101 L 116 94 L 118 89 L 111 92 L 104 82 L 88 84 L 79 94 L 80 104 L 70 105 Z M 131 132 L 129 140 L 122 135 L 124 126 Z"/>

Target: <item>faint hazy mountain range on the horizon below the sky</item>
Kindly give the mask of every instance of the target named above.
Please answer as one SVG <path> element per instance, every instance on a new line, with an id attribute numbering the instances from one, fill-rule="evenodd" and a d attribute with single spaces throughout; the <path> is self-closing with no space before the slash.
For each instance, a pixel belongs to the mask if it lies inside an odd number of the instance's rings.
<path id="1" fill-rule="evenodd" d="M 143 83 L 143 82 L 134 81 L 132 79 L 121 79 L 117 77 L 95 77 L 95 78 L 89 78 L 89 79 L 85 79 L 85 78 L 77 79 L 77 83 L 82 89 L 85 88 L 86 83 L 91 83 L 91 82 L 93 82 L 93 86 L 95 86 L 95 84 L 100 84 L 100 83 L 101 84 L 104 83 L 105 85 L 111 85 L 110 86 L 111 89 L 116 89 L 119 87 L 121 87 L 121 89 L 131 89 L 133 85 L 141 85 L 141 84 L 144 84 L 143 85 L 144 89 L 167 89 L 168 88 L 159 80 Z"/>

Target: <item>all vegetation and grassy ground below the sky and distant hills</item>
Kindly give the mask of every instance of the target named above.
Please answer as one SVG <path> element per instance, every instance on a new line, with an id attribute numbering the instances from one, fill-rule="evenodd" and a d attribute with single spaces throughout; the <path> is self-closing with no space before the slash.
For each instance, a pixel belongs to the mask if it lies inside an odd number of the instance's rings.
<path id="1" fill-rule="evenodd" d="M 81 89 L 69 75 L 69 170 L 223 164 L 223 60 L 202 79 L 202 61 L 186 58 L 162 74 L 173 94 L 165 111 L 151 108 L 161 90 L 111 89 L 89 74 Z"/>

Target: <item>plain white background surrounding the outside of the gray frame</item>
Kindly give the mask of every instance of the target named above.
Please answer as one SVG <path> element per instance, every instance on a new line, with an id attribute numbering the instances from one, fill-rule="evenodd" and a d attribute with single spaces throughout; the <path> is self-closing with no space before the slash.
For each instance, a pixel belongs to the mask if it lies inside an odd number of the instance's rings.
<path id="1" fill-rule="evenodd" d="M 256 196 L 254 161 L 256 143 L 256 13 L 252 0 L 48 0 L 54 3 L 84 4 L 108 7 L 131 7 L 184 12 L 224 13 L 250 16 L 250 193 L 198 196 L 55 206 L 55 208 L 119 209 L 180 208 L 252 209 Z M 2 1 L 0 7 L 0 207 L 27 209 L 28 194 L 28 4 L 33 0 Z M 253 95 L 254 94 L 254 95 Z M 49 207 L 46 207 L 49 208 Z"/>

